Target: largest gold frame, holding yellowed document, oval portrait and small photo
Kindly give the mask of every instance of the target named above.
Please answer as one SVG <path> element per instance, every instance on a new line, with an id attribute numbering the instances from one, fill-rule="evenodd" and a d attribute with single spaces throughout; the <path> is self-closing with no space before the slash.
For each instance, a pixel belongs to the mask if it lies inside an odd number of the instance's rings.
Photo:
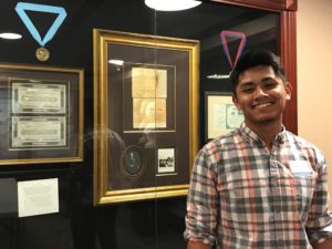
<path id="1" fill-rule="evenodd" d="M 198 151 L 198 41 L 93 34 L 94 204 L 186 195 Z"/>

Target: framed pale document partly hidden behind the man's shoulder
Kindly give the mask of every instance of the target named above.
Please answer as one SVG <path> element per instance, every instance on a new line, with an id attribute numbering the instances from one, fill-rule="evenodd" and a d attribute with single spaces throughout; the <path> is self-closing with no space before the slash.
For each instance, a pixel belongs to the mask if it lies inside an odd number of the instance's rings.
<path id="1" fill-rule="evenodd" d="M 232 103 L 231 93 L 206 92 L 206 142 L 238 128 L 243 114 Z"/>

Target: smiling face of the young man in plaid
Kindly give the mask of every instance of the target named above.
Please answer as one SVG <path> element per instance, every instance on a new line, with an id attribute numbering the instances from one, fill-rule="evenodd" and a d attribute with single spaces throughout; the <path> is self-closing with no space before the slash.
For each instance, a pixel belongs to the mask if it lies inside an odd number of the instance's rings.
<path id="1" fill-rule="evenodd" d="M 256 127 L 268 123 L 281 124 L 290 96 L 289 82 L 283 84 L 271 66 L 258 65 L 240 74 L 234 103 L 242 110 L 246 124 Z"/>

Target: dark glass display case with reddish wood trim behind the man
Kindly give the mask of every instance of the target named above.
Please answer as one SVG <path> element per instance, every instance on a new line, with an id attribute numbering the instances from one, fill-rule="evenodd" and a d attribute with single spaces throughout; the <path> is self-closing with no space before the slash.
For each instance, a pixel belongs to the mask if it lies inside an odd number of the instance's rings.
<path id="1" fill-rule="evenodd" d="M 297 133 L 295 0 L 0 11 L 0 32 L 21 35 L 0 34 L 1 249 L 185 248 L 191 165 L 240 122 L 229 73 L 248 49 L 280 58 L 293 85 L 284 124 Z M 232 121 L 216 124 L 212 106 Z"/>

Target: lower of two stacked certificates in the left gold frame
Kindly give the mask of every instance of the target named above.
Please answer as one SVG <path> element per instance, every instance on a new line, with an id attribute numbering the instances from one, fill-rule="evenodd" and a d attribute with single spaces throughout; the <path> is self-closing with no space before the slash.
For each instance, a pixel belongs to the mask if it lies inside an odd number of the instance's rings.
<path id="1" fill-rule="evenodd" d="M 10 149 L 66 146 L 65 116 L 13 116 Z"/>

